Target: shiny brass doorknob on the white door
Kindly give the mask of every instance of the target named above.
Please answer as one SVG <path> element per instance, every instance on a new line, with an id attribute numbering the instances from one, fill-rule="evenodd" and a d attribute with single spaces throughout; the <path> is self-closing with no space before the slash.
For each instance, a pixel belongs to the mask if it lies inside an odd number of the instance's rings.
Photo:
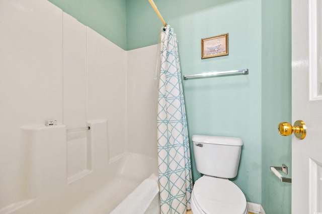
<path id="1" fill-rule="evenodd" d="M 304 139 L 306 136 L 306 125 L 302 120 L 295 121 L 294 126 L 288 122 L 282 122 L 278 124 L 278 132 L 283 136 L 294 133 L 297 138 Z"/>

